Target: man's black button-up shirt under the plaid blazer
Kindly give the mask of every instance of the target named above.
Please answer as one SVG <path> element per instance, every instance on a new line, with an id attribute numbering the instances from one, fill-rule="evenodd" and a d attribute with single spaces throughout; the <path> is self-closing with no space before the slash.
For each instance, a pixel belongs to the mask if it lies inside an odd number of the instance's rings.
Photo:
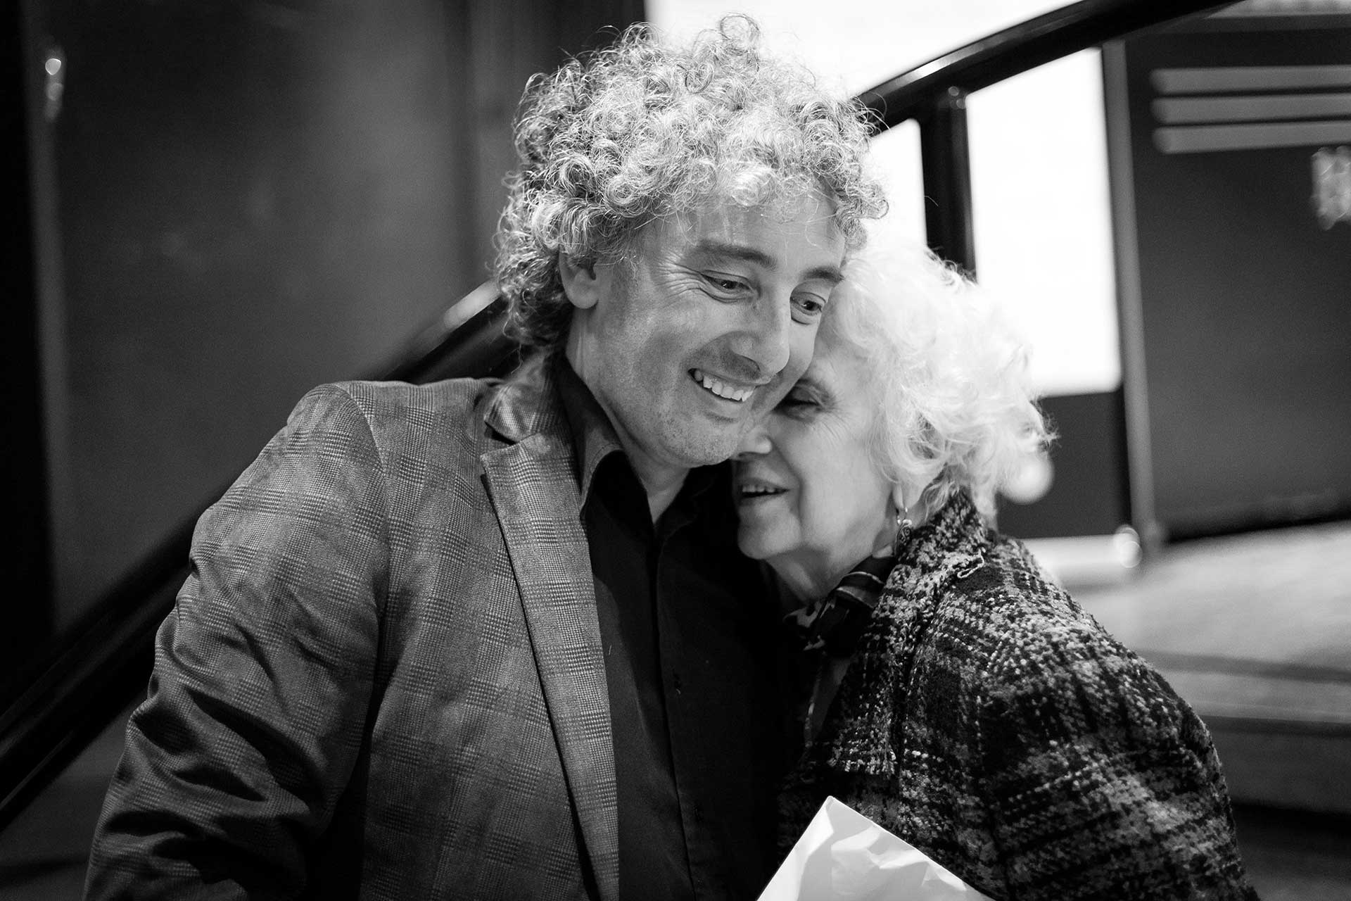
<path id="1" fill-rule="evenodd" d="M 620 898 L 755 898 L 778 865 L 775 609 L 736 551 L 725 466 L 654 524 L 586 385 L 559 355 L 605 652 Z"/>

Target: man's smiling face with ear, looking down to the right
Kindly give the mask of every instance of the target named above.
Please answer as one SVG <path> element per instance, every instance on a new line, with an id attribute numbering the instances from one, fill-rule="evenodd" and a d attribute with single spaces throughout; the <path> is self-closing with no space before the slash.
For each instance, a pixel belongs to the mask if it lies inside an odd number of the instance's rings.
<path id="1" fill-rule="evenodd" d="M 567 359 L 639 471 L 727 459 L 807 369 L 844 257 L 831 213 L 711 205 L 644 228 L 628 263 L 561 261 Z"/>

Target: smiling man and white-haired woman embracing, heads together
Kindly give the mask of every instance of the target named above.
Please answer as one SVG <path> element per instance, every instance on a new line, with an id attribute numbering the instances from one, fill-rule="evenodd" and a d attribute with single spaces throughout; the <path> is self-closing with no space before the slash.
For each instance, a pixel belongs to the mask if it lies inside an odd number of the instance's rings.
<path id="1" fill-rule="evenodd" d="M 86 897 L 751 898 L 827 794 L 997 898 L 1255 897 L 1200 719 L 993 531 L 1025 350 L 863 250 L 866 140 L 746 19 L 534 78 L 538 353 L 317 388 L 203 516 Z"/>

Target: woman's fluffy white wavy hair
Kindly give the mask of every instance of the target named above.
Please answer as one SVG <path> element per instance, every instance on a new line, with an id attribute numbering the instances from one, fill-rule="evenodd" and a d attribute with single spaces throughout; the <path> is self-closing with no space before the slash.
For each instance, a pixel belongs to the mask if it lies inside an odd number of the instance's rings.
<path id="1" fill-rule="evenodd" d="M 1028 346 L 988 292 L 927 247 L 871 247 L 844 272 L 823 328 L 869 373 L 874 461 L 909 507 L 932 512 L 966 489 L 993 524 L 996 492 L 1052 438 Z"/>

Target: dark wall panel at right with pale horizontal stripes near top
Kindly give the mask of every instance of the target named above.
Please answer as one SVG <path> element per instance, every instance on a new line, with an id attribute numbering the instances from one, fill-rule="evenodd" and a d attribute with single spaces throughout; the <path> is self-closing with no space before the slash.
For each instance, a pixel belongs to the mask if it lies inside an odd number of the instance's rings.
<path id="1" fill-rule="evenodd" d="M 1129 127 L 1113 178 L 1128 159 L 1121 234 L 1136 238 L 1125 278 L 1138 299 L 1123 304 L 1136 308 L 1142 355 L 1127 366 L 1148 424 L 1154 525 L 1186 538 L 1351 515 L 1351 216 L 1320 220 L 1316 178 L 1319 154 L 1348 154 L 1351 140 L 1327 136 L 1348 134 L 1320 120 L 1332 113 L 1301 115 L 1288 99 L 1344 96 L 1351 80 L 1316 76 L 1351 62 L 1351 16 L 1197 19 L 1123 46 L 1124 92 L 1108 115 Z M 1282 86 L 1267 68 L 1312 81 Z M 1169 92 L 1156 73 L 1174 69 L 1254 74 Z M 1251 146 L 1183 153 L 1165 135 L 1210 124 L 1163 127 L 1162 104 L 1183 95 L 1288 108 L 1217 120 L 1267 132 Z"/>

